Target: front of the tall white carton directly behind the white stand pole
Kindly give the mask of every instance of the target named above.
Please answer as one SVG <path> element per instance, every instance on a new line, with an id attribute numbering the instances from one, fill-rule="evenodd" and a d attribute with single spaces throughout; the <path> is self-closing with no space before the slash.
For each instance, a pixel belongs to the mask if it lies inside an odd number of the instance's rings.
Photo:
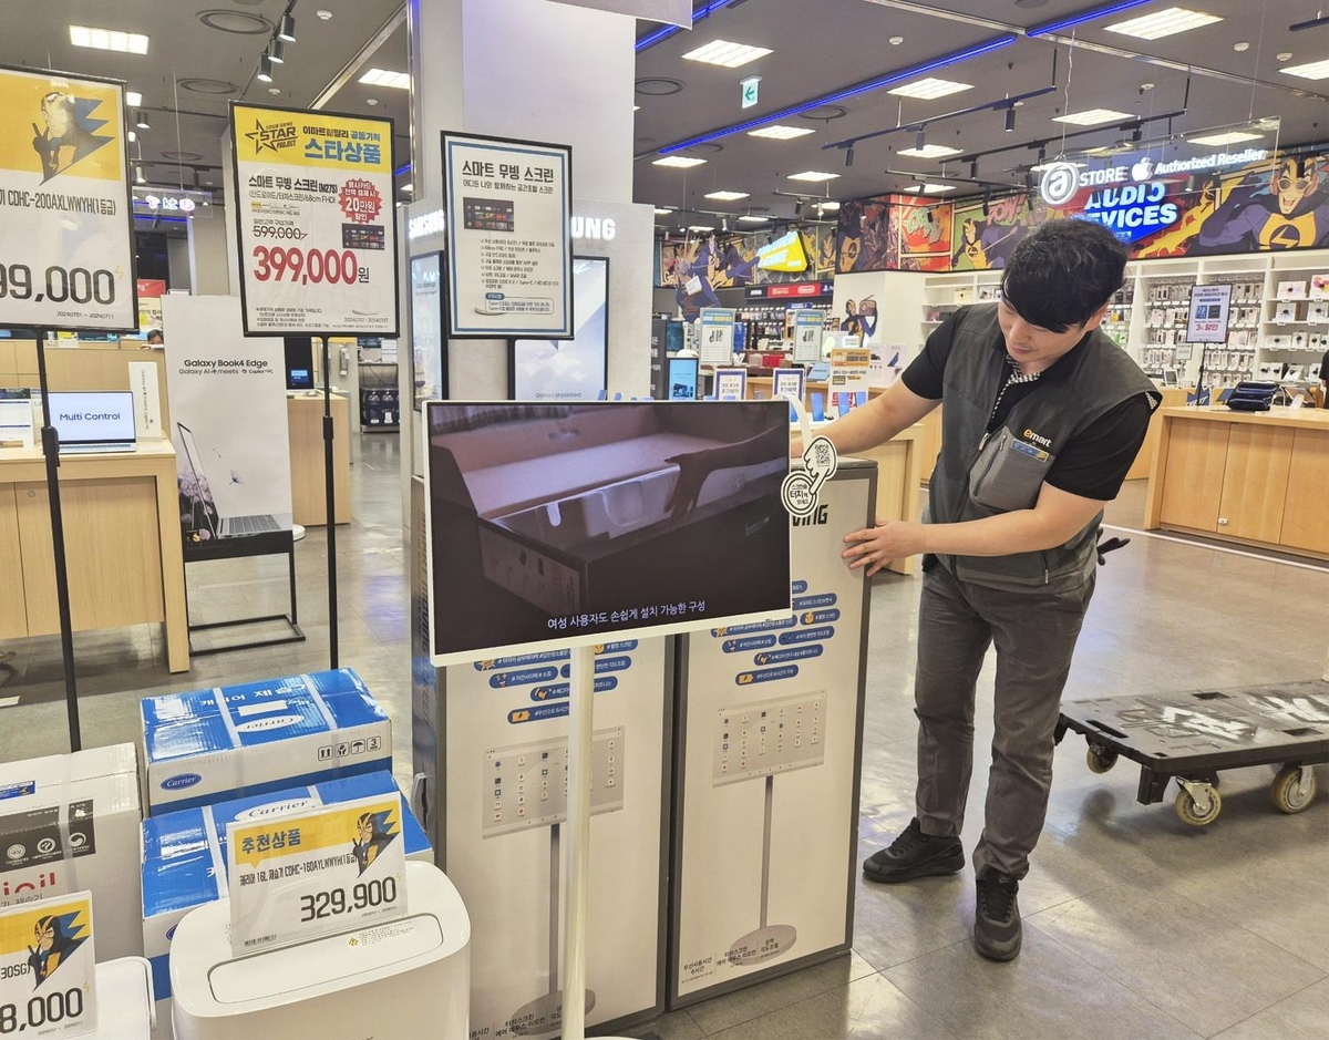
<path id="1" fill-rule="evenodd" d="M 593 646 L 587 1024 L 611 1032 L 655 1008 L 663 971 L 666 646 L 609 637 Z M 439 676 L 447 743 L 439 863 L 470 915 L 470 1028 L 552 1037 L 562 1013 L 550 951 L 562 944 L 571 657 L 567 649 L 496 656 Z"/>

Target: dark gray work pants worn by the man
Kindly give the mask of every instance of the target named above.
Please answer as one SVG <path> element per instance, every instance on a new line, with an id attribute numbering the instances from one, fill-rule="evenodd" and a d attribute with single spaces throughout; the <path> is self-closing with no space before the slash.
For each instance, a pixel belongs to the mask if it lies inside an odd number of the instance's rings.
<path id="1" fill-rule="evenodd" d="M 918 609 L 917 813 L 924 834 L 958 835 L 974 758 L 974 684 L 997 646 L 993 765 L 974 871 L 1029 872 L 1053 782 L 1053 737 L 1094 576 L 1070 592 L 1007 592 L 940 563 Z"/>

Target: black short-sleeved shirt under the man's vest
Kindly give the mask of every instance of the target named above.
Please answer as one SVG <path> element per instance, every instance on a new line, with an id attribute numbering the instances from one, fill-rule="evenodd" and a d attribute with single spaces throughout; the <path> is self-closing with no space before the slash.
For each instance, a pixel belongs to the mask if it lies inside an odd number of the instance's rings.
<path id="1" fill-rule="evenodd" d="M 960 310 L 942 322 L 928 336 L 922 354 L 914 358 L 900 376 L 905 386 L 920 398 L 942 399 L 942 378 L 954 342 L 956 322 L 964 314 L 965 311 Z M 1082 348 L 1083 340 L 1074 350 Z M 1006 344 L 999 334 L 993 343 L 993 350 L 999 350 L 1006 355 Z M 1045 375 L 1069 359 L 1070 355 L 1059 358 L 1045 371 Z M 1055 392 L 1043 376 L 1029 383 L 1009 386 L 1005 394 L 998 395 L 999 404 L 987 428 L 999 427 L 1015 402 L 1030 394 L 1043 392 Z M 1047 483 L 1059 491 L 1084 499 L 1096 499 L 1098 501 L 1115 499 L 1116 492 L 1122 489 L 1122 481 L 1126 480 L 1127 472 L 1135 463 L 1135 456 L 1140 452 L 1144 435 L 1148 434 L 1150 414 L 1150 402 L 1144 394 L 1136 394 L 1104 412 L 1062 447 L 1047 471 Z"/>

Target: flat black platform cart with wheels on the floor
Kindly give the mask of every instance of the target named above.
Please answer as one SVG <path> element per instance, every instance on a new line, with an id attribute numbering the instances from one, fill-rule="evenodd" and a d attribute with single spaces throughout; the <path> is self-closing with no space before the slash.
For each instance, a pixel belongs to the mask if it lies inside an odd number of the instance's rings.
<path id="1" fill-rule="evenodd" d="M 1176 814 L 1192 826 L 1223 809 L 1219 771 L 1248 766 L 1281 765 L 1269 797 L 1300 813 L 1316 795 L 1310 766 L 1329 762 L 1329 680 L 1067 701 L 1058 743 L 1067 730 L 1084 735 L 1094 773 L 1138 762 L 1143 805 L 1162 802 L 1176 779 Z"/>

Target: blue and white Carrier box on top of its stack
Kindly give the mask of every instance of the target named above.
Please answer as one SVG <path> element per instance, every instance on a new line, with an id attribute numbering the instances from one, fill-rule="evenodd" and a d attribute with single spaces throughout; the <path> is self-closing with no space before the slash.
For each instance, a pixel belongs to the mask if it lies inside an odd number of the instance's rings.
<path id="1" fill-rule="evenodd" d="M 348 668 L 142 701 L 148 814 L 392 770 L 392 726 Z"/>

